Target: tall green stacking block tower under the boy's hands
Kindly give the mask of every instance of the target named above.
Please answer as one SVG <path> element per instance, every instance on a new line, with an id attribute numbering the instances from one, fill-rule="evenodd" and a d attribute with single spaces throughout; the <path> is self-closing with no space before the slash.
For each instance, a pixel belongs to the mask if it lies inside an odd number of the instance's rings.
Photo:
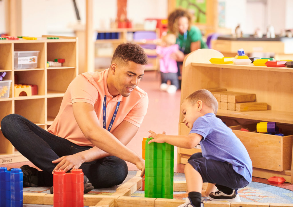
<path id="1" fill-rule="evenodd" d="M 144 197 L 173 199 L 174 146 L 145 142 Z"/>

